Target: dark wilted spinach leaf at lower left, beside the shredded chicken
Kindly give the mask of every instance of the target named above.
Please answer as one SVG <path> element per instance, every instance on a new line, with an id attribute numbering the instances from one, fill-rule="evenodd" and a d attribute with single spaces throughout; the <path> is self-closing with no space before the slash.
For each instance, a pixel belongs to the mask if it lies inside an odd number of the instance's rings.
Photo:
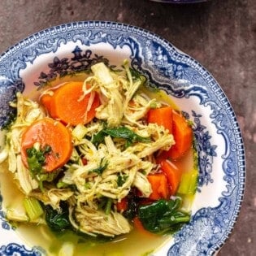
<path id="1" fill-rule="evenodd" d="M 46 223 L 55 232 L 64 231 L 72 225 L 68 218 L 67 202 L 60 202 L 61 210 L 54 210 L 51 206 L 46 206 Z"/>

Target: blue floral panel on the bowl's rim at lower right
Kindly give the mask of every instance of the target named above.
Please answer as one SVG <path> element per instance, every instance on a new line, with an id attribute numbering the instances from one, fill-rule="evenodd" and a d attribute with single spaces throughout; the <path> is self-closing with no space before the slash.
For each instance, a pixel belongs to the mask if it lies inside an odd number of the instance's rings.
<path id="1" fill-rule="evenodd" d="M 231 204 L 228 198 L 220 198 L 219 206 L 198 210 L 192 221 L 176 233 L 176 243 L 171 246 L 167 256 L 184 256 L 188 248 L 190 255 L 212 255 L 220 248 L 219 241 L 225 239 L 223 231 L 230 221 L 229 218 L 232 218 L 229 210 Z"/>

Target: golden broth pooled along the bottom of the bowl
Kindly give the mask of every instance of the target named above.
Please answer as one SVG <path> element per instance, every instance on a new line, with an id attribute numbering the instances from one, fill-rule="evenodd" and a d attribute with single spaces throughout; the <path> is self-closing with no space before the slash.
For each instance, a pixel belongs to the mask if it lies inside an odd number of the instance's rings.
<path id="1" fill-rule="evenodd" d="M 97 242 L 72 232 L 54 235 L 45 225 L 20 225 L 17 232 L 28 245 L 39 245 L 49 256 L 57 256 L 65 242 L 75 245 L 74 256 L 130 256 L 146 255 L 153 252 L 171 236 L 143 235 L 136 230 L 125 236 L 119 236 L 110 242 Z M 35 237 L 35 233 L 38 235 Z M 143 245 L 143 246 L 141 246 Z"/>

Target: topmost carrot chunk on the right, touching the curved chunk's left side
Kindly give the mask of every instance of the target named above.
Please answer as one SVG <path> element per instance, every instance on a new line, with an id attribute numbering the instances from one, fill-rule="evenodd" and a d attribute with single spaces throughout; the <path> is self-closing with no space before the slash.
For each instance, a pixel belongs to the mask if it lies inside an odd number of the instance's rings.
<path id="1" fill-rule="evenodd" d="M 162 125 L 164 128 L 172 132 L 172 108 L 171 106 L 163 106 L 160 108 L 150 109 L 147 116 L 148 123 Z"/>

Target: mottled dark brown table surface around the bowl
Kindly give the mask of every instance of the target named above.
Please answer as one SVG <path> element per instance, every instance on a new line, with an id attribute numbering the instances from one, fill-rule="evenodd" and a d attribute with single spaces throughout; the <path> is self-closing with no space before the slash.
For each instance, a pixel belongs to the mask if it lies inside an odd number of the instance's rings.
<path id="1" fill-rule="evenodd" d="M 256 255 L 256 1 L 190 5 L 148 0 L 1 0 L 0 52 L 29 34 L 77 20 L 111 20 L 157 33 L 197 59 L 228 96 L 245 142 L 241 214 L 221 256 Z M 177 255 L 178 256 L 178 255 Z"/>

